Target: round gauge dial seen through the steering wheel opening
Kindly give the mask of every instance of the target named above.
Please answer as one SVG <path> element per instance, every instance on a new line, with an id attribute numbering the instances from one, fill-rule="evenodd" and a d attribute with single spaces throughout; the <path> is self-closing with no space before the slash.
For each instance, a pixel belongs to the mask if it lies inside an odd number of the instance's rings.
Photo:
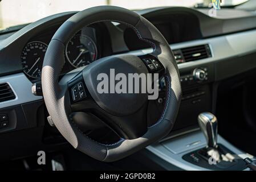
<path id="1" fill-rule="evenodd" d="M 94 41 L 86 35 L 75 35 L 66 46 L 67 60 L 75 68 L 92 63 L 97 58 Z"/>

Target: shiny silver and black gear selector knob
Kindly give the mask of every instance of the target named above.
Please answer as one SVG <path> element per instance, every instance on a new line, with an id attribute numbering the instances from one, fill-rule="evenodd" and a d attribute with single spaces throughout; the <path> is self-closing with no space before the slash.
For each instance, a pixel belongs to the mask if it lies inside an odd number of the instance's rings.
<path id="1" fill-rule="evenodd" d="M 204 133 L 207 147 L 217 148 L 218 122 L 212 113 L 201 113 L 198 115 L 198 124 Z"/>

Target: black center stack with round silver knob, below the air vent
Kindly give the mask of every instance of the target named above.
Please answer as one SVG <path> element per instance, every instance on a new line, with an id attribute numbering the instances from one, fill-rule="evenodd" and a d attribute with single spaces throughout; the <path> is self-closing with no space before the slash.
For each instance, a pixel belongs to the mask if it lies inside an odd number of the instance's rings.
<path id="1" fill-rule="evenodd" d="M 182 100 L 173 131 L 198 128 L 198 114 L 212 110 L 213 65 L 180 69 L 180 77 Z"/>

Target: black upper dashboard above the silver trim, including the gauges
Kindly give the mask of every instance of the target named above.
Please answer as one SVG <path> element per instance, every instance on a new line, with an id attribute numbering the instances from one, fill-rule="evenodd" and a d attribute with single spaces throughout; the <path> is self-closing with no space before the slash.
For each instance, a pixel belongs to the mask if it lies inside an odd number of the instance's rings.
<path id="1" fill-rule="evenodd" d="M 237 15 L 231 18 L 212 18 L 204 10 L 185 7 L 161 7 L 140 10 L 137 13 L 152 22 L 172 45 L 206 40 L 256 27 L 253 13 L 247 13 L 246 16 L 243 13 L 242 17 Z M 40 79 L 48 43 L 58 27 L 73 14 L 75 12 L 48 16 L 18 32 L 10 33 L 7 38 L 5 35 L 5 39 L 0 42 L 0 57 L 5 57 L 0 63 L 0 76 L 23 71 L 30 80 Z M 135 32 L 124 24 L 95 23 L 77 32 L 66 45 L 66 64 L 62 73 L 90 64 L 100 57 L 147 48 L 149 45 L 139 40 Z M 209 56 L 202 59 L 207 57 Z M 179 63 L 184 62 L 180 60 Z"/>

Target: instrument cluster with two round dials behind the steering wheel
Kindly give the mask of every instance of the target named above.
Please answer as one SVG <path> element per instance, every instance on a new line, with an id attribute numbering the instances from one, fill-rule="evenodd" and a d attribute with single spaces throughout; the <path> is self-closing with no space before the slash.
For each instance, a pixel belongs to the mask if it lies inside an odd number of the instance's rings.
<path id="1" fill-rule="evenodd" d="M 50 40 L 33 40 L 26 44 L 21 53 L 23 71 L 30 78 L 38 79 L 42 75 L 43 59 Z M 83 67 L 99 58 L 95 28 L 84 27 L 80 30 L 65 49 L 66 71 Z M 65 66 L 64 66 L 65 67 Z M 65 68 L 64 68 L 65 69 Z"/>

